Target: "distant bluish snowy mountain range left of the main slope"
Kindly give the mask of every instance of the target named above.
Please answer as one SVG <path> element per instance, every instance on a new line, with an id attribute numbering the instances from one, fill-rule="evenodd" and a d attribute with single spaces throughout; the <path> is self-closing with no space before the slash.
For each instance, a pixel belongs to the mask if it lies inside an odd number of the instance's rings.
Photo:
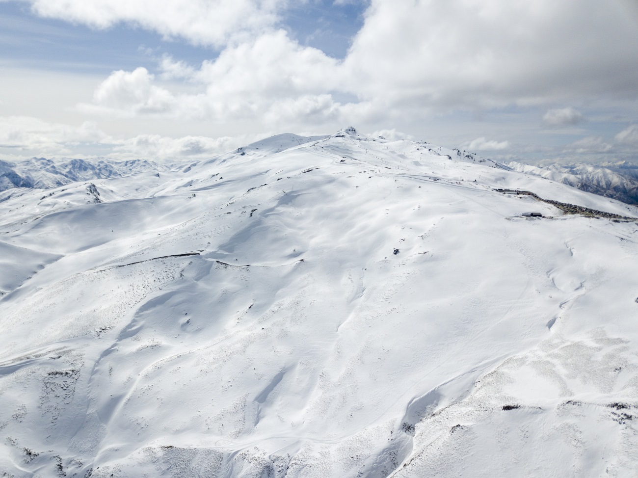
<path id="1" fill-rule="evenodd" d="M 147 160 L 114 161 L 108 158 L 79 160 L 70 158 L 8 162 L 0 161 L 0 191 L 13 188 L 50 189 L 75 183 L 121 177 L 145 170 L 168 167 Z"/>

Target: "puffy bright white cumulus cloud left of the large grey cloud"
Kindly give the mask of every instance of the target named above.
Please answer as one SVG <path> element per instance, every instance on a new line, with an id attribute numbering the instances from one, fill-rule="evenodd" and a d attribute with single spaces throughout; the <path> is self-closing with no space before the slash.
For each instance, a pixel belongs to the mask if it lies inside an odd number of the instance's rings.
<path id="1" fill-rule="evenodd" d="M 225 121 L 258 118 L 266 125 L 323 124 L 339 121 L 341 103 L 326 91 L 344 83 L 338 61 L 303 47 L 285 31 L 221 52 L 197 70 L 164 57 L 162 75 L 198 85 L 197 93 L 175 93 L 156 84 L 145 68 L 114 71 L 96 89 L 85 112 L 115 116 Z"/>

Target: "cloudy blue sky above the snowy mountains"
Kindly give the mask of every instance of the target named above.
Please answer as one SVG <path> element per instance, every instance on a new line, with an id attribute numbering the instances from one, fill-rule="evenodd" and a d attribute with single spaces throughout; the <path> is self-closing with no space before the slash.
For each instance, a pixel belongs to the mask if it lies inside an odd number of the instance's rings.
<path id="1" fill-rule="evenodd" d="M 193 160 L 346 126 L 638 163 L 638 0 L 0 0 L 0 160 Z"/>

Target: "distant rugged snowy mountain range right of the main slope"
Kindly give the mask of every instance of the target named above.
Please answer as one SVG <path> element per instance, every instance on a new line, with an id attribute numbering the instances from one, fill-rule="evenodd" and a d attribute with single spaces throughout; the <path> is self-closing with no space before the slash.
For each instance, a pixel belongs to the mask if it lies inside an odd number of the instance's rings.
<path id="1" fill-rule="evenodd" d="M 611 197 L 627 204 L 638 204 L 638 166 L 626 163 L 608 165 L 549 165 L 530 166 L 512 161 L 508 167 L 526 174 L 568 184 L 574 188 L 605 197 Z"/>

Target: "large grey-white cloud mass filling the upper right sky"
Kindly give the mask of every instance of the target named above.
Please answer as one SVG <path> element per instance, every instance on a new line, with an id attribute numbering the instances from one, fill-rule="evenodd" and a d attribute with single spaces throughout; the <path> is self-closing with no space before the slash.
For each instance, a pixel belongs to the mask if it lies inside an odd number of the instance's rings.
<path id="1" fill-rule="evenodd" d="M 616 0 L 373 0 L 345 66 L 404 112 L 635 96 L 637 34 Z"/>

